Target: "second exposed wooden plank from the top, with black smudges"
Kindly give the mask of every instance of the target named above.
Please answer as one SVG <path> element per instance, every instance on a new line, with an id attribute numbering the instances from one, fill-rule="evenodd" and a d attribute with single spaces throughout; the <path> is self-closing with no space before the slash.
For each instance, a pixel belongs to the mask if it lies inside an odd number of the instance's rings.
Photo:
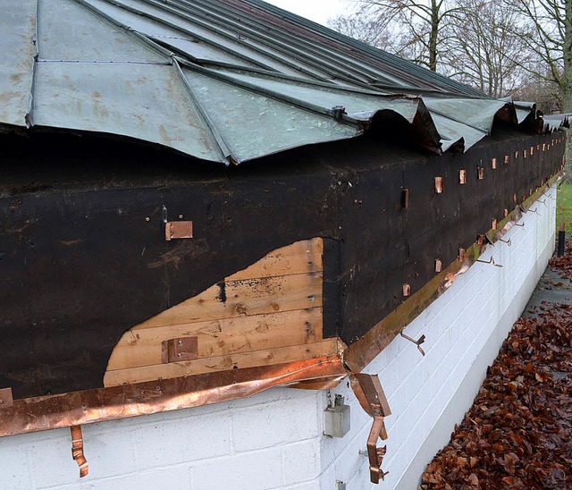
<path id="1" fill-rule="evenodd" d="M 131 331 L 223 318 L 322 307 L 322 273 L 240 279 L 215 284 Z"/>

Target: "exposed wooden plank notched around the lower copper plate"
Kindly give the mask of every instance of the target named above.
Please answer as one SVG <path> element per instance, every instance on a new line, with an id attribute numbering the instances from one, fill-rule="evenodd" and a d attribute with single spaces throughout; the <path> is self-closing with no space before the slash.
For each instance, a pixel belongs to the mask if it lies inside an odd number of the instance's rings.
<path id="1" fill-rule="evenodd" d="M 170 339 L 197 337 L 198 357 L 206 358 L 318 342 L 322 326 L 322 308 L 310 308 L 139 329 L 122 336 L 107 370 L 161 364 L 162 343 Z"/>

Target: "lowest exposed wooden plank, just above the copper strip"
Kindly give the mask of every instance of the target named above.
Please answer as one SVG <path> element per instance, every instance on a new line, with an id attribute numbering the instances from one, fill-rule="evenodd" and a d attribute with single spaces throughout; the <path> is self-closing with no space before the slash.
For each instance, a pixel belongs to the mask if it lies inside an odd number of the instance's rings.
<path id="1" fill-rule="evenodd" d="M 201 373 L 214 373 L 233 368 L 272 366 L 284 362 L 332 355 L 338 353 L 340 349 L 341 345 L 339 345 L 337 339 L 328 339 L 322 342 L 282 347 L 279 349 L 265 349 L 154 366 L 131 367 L 129 369 L 107 371 L 104 377 L 104 385 L 105 387 L 118 386 L 120 384 L 170 379 Z"/>

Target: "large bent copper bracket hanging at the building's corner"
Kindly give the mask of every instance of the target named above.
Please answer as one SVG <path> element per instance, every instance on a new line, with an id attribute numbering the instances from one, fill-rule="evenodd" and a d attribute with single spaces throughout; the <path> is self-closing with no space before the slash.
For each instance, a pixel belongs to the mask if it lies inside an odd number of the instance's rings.
<path id="1" fill-rule="evenodd" d="M 383 456 L 386 446 L 378 448 L 377 440 L 387 439 L 387 430 L 383 419 L 391 415 L 390 405 L 383 393 L 382 384 L 377 375 L 350 375 L 351 387 L 356 393 L 357 401 L 366 412 L 374 418 L 372 429 L 367 437 L 367 457 L 369 459 L 369 473 L 371 481 L 378 484 L 385 479 L 387 472 L 382 469 Z"/>

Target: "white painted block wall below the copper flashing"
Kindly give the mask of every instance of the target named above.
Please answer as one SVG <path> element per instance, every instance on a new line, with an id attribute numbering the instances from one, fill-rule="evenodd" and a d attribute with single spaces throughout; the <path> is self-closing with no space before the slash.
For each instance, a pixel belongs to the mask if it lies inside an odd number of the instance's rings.
<path id="1" fill-rule="evenodd" d="M 425 358 L 402 338 L 365 369 L 379 374 L 393 415 L 379 488 L 414 489 L 470 407 L 486 367 L 526 306 L 554 247 L 556 190 L 532 207 L 491 255 L 408 325 L 425 334 Z M 344 381 L 351 431 L 322 435 L 326 393 L 273 389 L 246 400 L 84 426 L 89 476 L 80 480 L 67 429 L 0 439 L 0 489 L 97 488 L 348 490 L 369 482 L 371 418 Z"/>

